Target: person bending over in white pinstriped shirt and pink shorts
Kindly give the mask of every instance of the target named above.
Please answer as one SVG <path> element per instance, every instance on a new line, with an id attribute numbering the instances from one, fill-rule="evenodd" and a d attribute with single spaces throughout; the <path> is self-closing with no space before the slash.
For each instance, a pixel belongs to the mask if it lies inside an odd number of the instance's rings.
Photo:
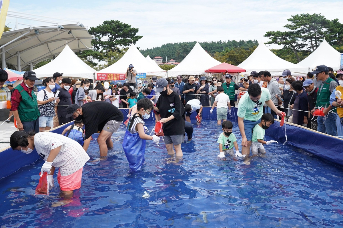
<path id="1" fill-rule="evenodd" d="M 48 187 L 54 187 L 55 168 L 59 168 L 57 181 L 64 197 L 71 197 L 73 190 L 81 187 L 82 169 L 90 159 L 82 146 L 64 135 L 52 132 L 14 132 L 10 137 L 13 150 L 31 153 L 36 149 L 45 163 L 40 170 L 48 174 Z"/>

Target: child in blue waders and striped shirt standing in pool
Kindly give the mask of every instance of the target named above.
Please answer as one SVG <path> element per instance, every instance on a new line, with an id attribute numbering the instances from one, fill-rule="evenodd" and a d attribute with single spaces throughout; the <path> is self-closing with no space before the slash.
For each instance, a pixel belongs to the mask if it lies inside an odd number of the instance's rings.
<path id="1" fill-rule="evenodd" d="M 158 144 L 160 139 L 156 135 L 149 136 L 144 131 L 143 119 L 149 119 L 153 108 L 154 106 L 149 99 L 139 100 L 137 112 L 130 117 L 128 122 L 122 146 L 129 161 L 129 167 L 134 171 L 140 170 L 145 161 L 145 140 L 153 140 Z"/>

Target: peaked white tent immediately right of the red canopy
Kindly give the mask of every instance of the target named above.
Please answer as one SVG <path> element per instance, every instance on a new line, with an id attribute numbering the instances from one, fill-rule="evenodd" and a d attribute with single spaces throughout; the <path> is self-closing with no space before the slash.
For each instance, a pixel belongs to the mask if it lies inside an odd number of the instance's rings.
<path id="1" fill-rule="evenodd" d="M 255 51 L 237 67 L 245 69 L 246 73 L 243 73 L 245 75 L 250 74 L 253 70 L 256 72 L 268 70 L 272 76 L 282 75 L 282 71 L 285 69 L 290 70 L 293 76 L 306 75 L 308 72 L 308 67 L 302 67 L 277 57 L 263 43 L 260 43 Z"/>

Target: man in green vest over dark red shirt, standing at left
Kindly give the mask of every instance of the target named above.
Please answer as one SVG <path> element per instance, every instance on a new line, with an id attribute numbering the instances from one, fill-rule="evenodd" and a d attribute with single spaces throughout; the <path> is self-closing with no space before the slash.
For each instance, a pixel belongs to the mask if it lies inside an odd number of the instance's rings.
<path id="1" fill-rule="evenodd" d="M 17 122 L 18 130 L 25 132 L 39 133 L 40 116 L 38 111 L 37 96 L 33 91 L 36 77 L 33 71 L 26 71 L 23 76 L 23 82 L 14 88 L 11 96 L 11 111 Z"/>

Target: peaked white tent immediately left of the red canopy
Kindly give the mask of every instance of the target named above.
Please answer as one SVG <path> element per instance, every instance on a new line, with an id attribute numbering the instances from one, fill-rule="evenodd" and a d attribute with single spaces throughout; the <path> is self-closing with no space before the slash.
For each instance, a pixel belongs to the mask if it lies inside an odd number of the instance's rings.
<path id="1" fill-rule="evenodd" d="M 221 64 L 212 58 L 197 42 L 191 52 L 176 67 L 168 70 L 168 77 L 178 75 L 205 75 L 206 69 Z"/>

